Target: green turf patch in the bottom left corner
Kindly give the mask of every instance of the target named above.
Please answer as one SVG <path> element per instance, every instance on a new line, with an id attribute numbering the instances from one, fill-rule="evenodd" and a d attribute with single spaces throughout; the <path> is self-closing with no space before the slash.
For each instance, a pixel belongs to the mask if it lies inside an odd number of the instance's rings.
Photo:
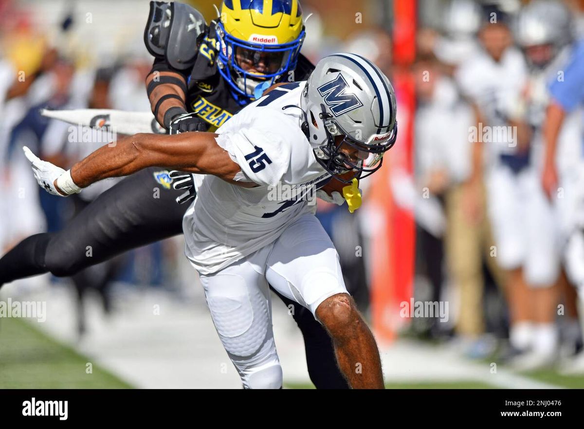
<path id="1" fill-rule="evenodd" d="M 0 389 L 131 388 L 21 319 L 0 319 Z"/>

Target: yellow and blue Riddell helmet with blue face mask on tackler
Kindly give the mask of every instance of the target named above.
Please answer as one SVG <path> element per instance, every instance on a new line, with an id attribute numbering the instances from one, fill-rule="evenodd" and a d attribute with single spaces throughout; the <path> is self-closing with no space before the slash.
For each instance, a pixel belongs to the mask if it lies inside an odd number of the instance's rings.
<path id="1" fill-rule="evenodd" d="M 298 0 L 224 0 L 215 29 L 219 71 L 246 103 L 296 68 L 305 36 Z"/>

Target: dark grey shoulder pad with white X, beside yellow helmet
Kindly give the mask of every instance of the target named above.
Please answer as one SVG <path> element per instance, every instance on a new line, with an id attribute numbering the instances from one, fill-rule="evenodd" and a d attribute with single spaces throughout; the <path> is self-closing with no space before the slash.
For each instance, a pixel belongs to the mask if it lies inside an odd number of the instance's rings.
<path id="1" fill-rule="evenodd" d="M 173 68 L 186 70 L 197 58 L 199 36 L 206 29 L 203 15 L 192 6 L 151 1 L 144 43 L 155 57 L 164 58 Z"/>

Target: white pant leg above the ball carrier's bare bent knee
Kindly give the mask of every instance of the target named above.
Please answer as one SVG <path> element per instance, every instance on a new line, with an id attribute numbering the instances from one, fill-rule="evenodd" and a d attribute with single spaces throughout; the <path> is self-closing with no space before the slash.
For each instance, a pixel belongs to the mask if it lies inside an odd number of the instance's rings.
<path id="1" fill-rule="evenodd" d="M 274 242 L 266 278 L 276 291 L 313 315 L 326 298 L 349 293 L 335 246 L 312 214 L 300 217 Z"/>

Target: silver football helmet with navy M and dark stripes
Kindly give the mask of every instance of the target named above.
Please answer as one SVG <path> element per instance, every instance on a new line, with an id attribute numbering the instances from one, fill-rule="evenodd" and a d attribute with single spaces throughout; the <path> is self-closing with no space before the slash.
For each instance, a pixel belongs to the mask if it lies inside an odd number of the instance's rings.
<path id="1" fill-rule="evenodd" d="M 319 61 L 300 107 L 314 154 L 332 175 L 354 171 L 354 177 L 369 176 L 395 144 L 394 89 L 376 65 L 359 55 L 333 54 Z"/>

